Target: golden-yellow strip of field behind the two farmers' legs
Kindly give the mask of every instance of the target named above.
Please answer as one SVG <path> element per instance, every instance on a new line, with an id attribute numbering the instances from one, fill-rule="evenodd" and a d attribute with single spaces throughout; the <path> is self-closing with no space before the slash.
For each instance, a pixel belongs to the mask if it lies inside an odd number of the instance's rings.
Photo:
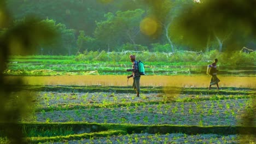
<path id="1" fill-rule="evenodd" d="M 8 76 L 10 79 L 15 76 Z M 256 77 L 218 76 L 220 87 L 256 88 Z M 127 86 L 126 75 L 23 76 L 27 85 Z M 141 86 L 208 87 L 211 76 L 141 76 Z M 132 85 L 129 79 L 128 85 Z"/>

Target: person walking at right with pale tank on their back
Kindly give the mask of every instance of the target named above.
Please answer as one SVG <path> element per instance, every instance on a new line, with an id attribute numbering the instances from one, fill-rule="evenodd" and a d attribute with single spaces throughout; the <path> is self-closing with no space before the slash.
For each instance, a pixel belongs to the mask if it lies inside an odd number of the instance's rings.
<path id="1" fill-rule="evenodd" d="M 220 80 L 217 77 L 217 72 L 219 71 L 217 70 L 217 62 L 218 62 L 218 59 L 216 58 L 214 59 L 214 62 L 211 65 L 210 75 L 212 76 L 212 79 L 208 89 L 210 89 L 212 85 L 217 85 L 217 90 L 219 90 L 218 82 L 220 82 Z"/>

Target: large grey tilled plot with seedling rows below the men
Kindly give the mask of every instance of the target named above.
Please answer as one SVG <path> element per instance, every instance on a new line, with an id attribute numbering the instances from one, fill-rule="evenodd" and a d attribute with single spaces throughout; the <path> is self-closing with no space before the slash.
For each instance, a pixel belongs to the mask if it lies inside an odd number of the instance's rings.
<path id="1" fill-rule="evenodd" d="M 176 95 L 184 98 L 186 95 Z M 204 98 L 208 95 L 187 95 Z M 38 96 L 37 122 L 117 124 L 241 125 L 253 100 L 195 100 L 164 103 L 161 94 L 49 93 Z M 177 99 L 177 98 L 176 98 Z M 254 121 L 255 124 L 255 121 Z"/>

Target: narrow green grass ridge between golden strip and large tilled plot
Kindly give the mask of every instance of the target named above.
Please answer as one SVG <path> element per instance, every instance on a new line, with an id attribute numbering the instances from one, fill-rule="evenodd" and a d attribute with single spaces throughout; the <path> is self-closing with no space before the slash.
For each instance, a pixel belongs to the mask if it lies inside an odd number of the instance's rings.
<path id="1" fill-rule="evenodd" d="M 110 93 L 134 93 L 132 88 L 123 86 L 34 86 L 22 85 L 13 87 L 13 91 L 17 89 L 24 89 L 32 92 L 110 92 Z M 167 94 L 218 94 L 218 95 L 253 95 L 256 94 L 254 88 L 230 88 L 222 87 L 222 90 L 216 89 L 208 90 L 207 88 L 180 88 L 180 87 L 141 87 L 141 93 L 167 93 Z"/>

